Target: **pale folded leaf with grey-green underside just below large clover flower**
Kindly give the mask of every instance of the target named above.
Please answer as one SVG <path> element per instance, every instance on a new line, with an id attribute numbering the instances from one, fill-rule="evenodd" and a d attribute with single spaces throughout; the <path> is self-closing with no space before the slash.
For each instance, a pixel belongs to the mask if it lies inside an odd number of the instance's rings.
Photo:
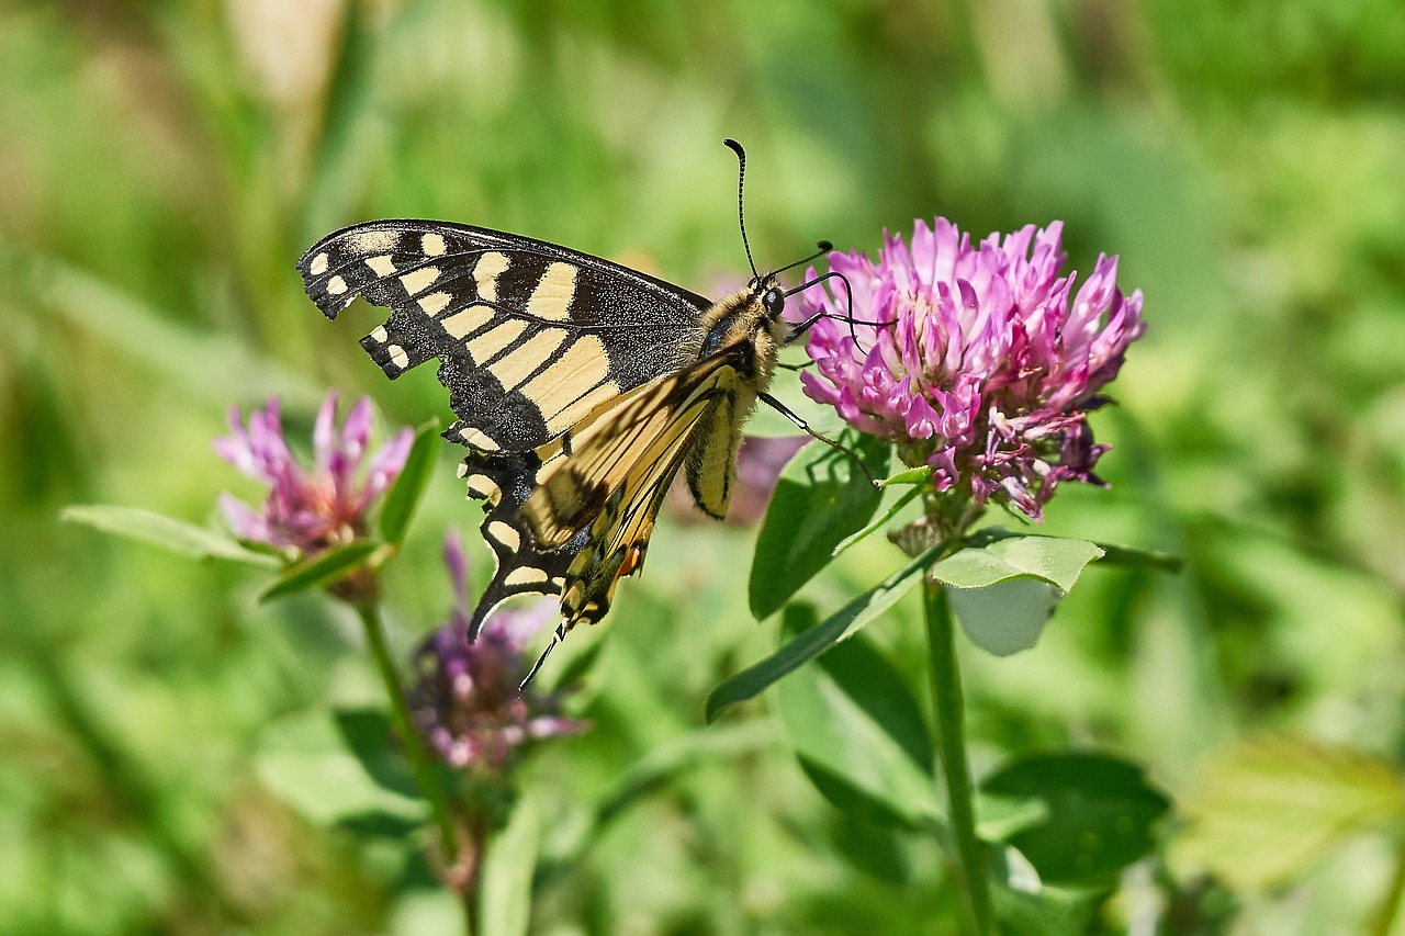
<path id="1" fill-rule="evenodd" d="M 961 628 L 996 656 L 1034 646 L 1059 599 L 1102 550 L 1086 540 L 1007 537 L 943 559 L 932 576 L 947 586 Z"/>

